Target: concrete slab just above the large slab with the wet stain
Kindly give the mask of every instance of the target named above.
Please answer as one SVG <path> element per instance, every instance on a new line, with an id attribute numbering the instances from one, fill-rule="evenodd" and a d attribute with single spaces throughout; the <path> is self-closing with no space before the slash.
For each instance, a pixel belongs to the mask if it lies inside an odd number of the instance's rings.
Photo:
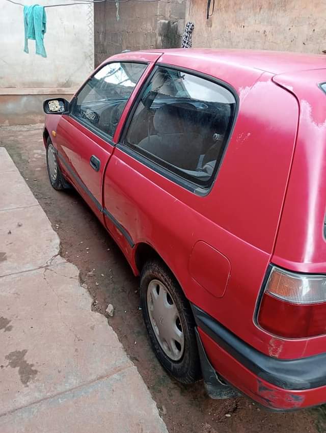
<path id="1" fill-rule="evenodd" d="M 60 239 L 39 205 L 0 211 L 0 277 L 45 266 L 59 251 Z"/>

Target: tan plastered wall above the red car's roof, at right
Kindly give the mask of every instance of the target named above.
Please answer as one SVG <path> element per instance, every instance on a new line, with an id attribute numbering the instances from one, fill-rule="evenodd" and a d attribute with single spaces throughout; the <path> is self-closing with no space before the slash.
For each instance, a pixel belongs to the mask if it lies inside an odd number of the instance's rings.
<path id="1" fill-rule="evenodd" d="M 188 0 L 186 17 L 195 22 L 194 47 L 319 54 L 326 49 L 325 2 L 215 0 L 214 12 L 209 19 L 206 19 L 206 8 L 206 0 Z"/>

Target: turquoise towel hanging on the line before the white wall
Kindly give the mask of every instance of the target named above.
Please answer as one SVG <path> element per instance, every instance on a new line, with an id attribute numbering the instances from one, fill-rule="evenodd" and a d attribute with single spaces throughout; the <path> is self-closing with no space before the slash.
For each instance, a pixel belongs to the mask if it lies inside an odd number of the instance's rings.
<path id="1" fill-rule="evenodd" d="M 46 57 L 44 48 L 44 33 L 46 32 L 46 14 L 43 6 L 24 6 L 24 29 L 25 47 L 24 51 L 29 52 L 28 40 L 35 41 L 36 54 Z"/>

